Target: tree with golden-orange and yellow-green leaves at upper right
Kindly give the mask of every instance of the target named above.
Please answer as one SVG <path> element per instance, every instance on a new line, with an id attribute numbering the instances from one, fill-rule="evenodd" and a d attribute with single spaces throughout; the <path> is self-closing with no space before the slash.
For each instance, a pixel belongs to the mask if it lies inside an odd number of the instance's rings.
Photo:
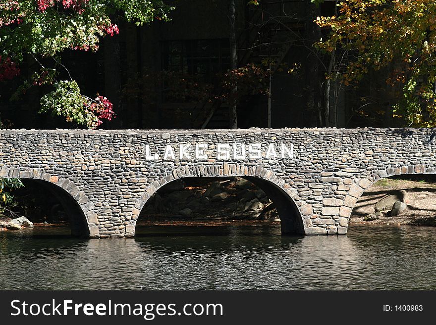
<path id="1" fill-rule="evenodd" d="M 387 71 L 389 87 L 400 87 L 394 117 L 410 126 L 436 125 L 436 1 L 347 0 L 338 15 L 318 17 L 330 32 L 318 47 L 353 55 L 338 76 L 356 84 L 371 71 Z M 332 76 L 329 76 L 330 78 Z"/>

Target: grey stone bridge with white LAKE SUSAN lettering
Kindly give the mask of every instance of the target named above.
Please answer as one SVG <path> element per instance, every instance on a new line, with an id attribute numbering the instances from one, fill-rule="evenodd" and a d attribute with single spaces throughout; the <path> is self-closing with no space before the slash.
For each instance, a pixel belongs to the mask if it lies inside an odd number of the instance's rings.
<path id="1" fill-rule="evenodd" d="M 1 130 L 0 177 L 45 184 L 74 234 L 130 237 L 161 186 L 246 178 L 274 202 L 282 233 L 345 234 L 377 180 L 436 173 L 435 129 Z"/>

